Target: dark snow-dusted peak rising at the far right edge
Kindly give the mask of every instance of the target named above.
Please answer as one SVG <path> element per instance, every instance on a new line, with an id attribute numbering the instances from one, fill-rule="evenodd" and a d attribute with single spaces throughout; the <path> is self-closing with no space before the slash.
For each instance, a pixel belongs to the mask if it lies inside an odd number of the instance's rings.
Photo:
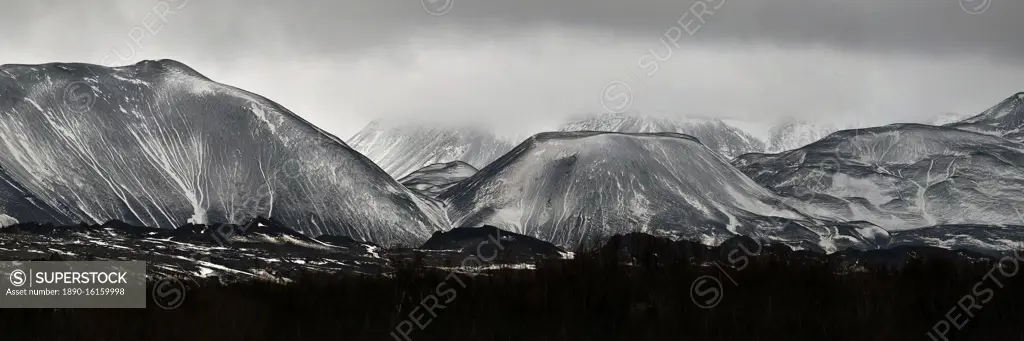
<path id="1" fill-rule="evenodd" d="M 977 116 L 946 126 L 1024 142 L 1024 92 L 1018 92 Z"/>

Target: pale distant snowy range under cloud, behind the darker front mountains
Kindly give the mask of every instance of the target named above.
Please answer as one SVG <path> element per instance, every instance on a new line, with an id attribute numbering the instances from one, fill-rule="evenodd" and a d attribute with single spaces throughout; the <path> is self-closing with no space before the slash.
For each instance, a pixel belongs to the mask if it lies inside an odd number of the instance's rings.
<path id="1" fill-rule="evenodd" d="M 773 126 L 763 140 L 752 132 L 718 119 L 624 113 L 577 117 L 550 130 L 677 132 L 694 136 L 716 153 L 734 158 L 746 153 L 775 153 L 799 147 L 839 129 L 788 120 Z M 453 161 L 483 168 L 522 140 L 518 136 L 500 135 L 470 125 L 383 120 L 371 122 L 348 141 L 388 174 L 401 178 L 421 167 Z"/>

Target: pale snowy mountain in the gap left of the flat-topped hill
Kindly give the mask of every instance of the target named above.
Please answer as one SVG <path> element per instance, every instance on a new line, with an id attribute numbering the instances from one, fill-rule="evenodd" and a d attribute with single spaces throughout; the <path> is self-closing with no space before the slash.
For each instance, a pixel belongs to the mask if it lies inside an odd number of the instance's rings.
<path id="1" fill-rule="evenodd" d="M 375 121 L 348 140 L 394 178 L 424 166 L 462 161 L 486 166 L 519 141 L 476 127 Z"/>

